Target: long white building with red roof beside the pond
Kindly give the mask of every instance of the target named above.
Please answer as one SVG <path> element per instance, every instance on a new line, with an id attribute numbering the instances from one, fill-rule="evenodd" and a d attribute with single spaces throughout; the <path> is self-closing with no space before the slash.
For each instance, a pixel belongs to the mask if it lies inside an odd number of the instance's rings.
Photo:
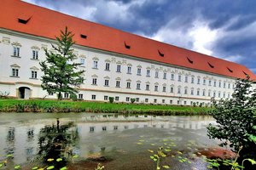
<path id="1" fill-rule="evenodd" d="M 56 98 L 40 87 L 39 61 L 65 26 L 75 34 L 77 62 L 85 71 L 79 99 L 205 105 L 212 97 L 230 98 L 237 78 L 256 80 L 243 65 L 20 0 L 2 0 L 0 9 L 0 93 L 11 97 Z"/>

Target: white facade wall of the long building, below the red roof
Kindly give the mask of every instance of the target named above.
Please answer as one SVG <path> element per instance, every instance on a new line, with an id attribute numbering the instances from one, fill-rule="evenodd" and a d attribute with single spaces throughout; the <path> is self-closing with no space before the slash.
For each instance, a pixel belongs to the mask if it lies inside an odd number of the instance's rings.
<path id="1" fill-rule="evenodd" d="M 30 98 L 55 99 L 56 95 L 49 95 L 40 87 L 40 77 L 43 72 L 40 71 L 39 65 L 39 61 L 45 59 L 44 48 L 51 50 L 51 43 L 54 41 L 7 30 L 0 30 L 0 41 L 0 92 L 9 93 L 12 97 L 20 97 L 19 88 L 26 87 L 31 89 Z M 20 48 L 19 57 L 13 56 L 14 47 Z M 32 50 L 38 50 L 38 59 L 32 59 Z M 199 105 L 209 103 L 214 93 L 215 99 L 231 97 L 236 82 L 234 77 L 224 77 L 123 54 L 81 46 L 75 46 L 74 50 L 78 56 L 76 62 L 80 62 L 81 59 L 85 61 L 84 66 L 79 66 L 79 69 L 85 71 L 84 84 L 79 89 L 79 94 L 83 94 L 84 100 L 91 100 L 92 95 L 96 95 L 94 100 L 98 101 L 104 101 L 104 96 L 108 96 L 119 97 L 119 102 L 129 102 L 126 98 L 138 98 L 137 103 L 192 105 L 195 102 Z M 94 61 L 97 61 L 97 68 L 93 68 Z M 109 71 L 105 70 L 107 62 Z M 120 65 L 120 72 L 117 72 L 117 65 Z M 127 72 L 128 66 L 131 67 L 131 73 Z M 19 70 L 18 77 L 12 77 L 14 67 Z M 137 75 L 137 68 L 141 68 L 141 75 Z M 149 76 L 147 70 L 150 71 Z M 37 79 L 32 78 L 32 71 L 37 71 Z M 159 77 L 155 77 L 155 71 L 159 72 Z M 178 80 L 179 76 L 181 81 Z M 191 82 L 192 77 L 194 83 Z M 92 84 L 93 78 L 96 78 L 96 85 Z M 109 81 L 108 86 L 105 86 L 105 79 Z M 117 81 L 120 82 L 119 88 L 116 87 Z M 131 82 L 131 88 L 127 88 L 127 82 Z M 140 89 L 137 89 L 137 83 L 140 83 Z M 149 90 L 146 90 L 147 84 Z M 158 91 L 154 90 L 155 86 L 158 86 Z M 166 87 L 166 91 L 163 91 L 163 87 Z M 191 94 L 192 90 L 194 94 Z"/>

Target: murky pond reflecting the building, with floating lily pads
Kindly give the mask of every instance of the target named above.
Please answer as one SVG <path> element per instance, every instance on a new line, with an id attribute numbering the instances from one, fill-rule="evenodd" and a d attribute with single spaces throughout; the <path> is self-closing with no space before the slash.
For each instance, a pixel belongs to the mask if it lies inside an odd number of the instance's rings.
<path id="1" fill-rule="evenodd" d="M 211 116 L 0 113 L 0 169 L 155 169 L 159 147 L 161 169 L 207 169 L 196 155 L 218 145 L 209 123 Z"/>

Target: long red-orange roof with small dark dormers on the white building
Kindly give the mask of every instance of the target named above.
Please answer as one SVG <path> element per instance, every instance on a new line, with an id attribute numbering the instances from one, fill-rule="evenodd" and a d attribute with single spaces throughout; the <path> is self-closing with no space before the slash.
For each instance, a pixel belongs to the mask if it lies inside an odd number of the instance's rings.
<path id="1" fill-rule="evenodd" d="M 0 28 L 55 39 L 55 36 L 60 34 L 60 30 L 64 30 L 67 26 L 68 30 L 75 34 L 73 40 L 85 47 L 212 72 L 227 77 L 245 78 L 247 74 L 256 80 L 256 75 L 244 65 L 81 20 L 20 0 L 1 0 L 0 11 Z"/>

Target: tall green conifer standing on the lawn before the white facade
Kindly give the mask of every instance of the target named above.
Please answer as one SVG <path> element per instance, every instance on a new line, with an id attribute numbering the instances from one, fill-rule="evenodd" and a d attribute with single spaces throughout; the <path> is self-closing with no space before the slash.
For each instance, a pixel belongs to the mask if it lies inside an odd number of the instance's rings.
<path id="1" fill-rule="evenodd" d="M 44 72 L 41 86 L 48 93 L 58 94 L 58 99 L 61 99 L 61 93 L 78 92 L 76 88 L 84 81 L 84 71 L 78 71 L 78 65 L 81 64 L 73 62 L 76 55 L 72 48 L 75 43 L 72 32 L 66 27 L 56 40 L 57 45 L 52 44 L 55 52 L 44 49 L 46 59 L 40 62 L 41 70 Z"/>

